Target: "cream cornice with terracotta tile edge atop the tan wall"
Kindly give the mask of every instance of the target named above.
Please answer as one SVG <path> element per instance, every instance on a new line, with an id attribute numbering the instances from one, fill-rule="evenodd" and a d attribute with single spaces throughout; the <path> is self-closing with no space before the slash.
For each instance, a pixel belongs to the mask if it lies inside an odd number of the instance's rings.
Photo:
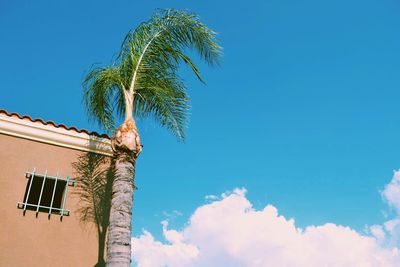
<path id="1" fill-rule="evenodd" d="M 15 137 L 25 138 L 46 144 L 72 148 L 80 151 L 94 152 L 112 156 L 111 141 L 105 136 L 90 134 L 87 131 L 71 131 L 67 127 L 56 127 L 56 124 L 35 122 L 30 117 L 8 113 L 0 113 L 0 133 Z M 13 114 L 14 115 L 14 114 Z"/>

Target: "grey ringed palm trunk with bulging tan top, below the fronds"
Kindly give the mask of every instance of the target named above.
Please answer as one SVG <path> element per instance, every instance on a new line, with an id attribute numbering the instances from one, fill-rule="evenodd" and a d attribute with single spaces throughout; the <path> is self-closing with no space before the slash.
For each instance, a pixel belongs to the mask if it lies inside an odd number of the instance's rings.
<path id="1" fill-rule="evenodd" d="M 119 127 L 111 144 L 116 161 L 108 229 L 107 266 L 129 267 L 135 163 L 142 150 L 133 118 L 127 119 Z"/>

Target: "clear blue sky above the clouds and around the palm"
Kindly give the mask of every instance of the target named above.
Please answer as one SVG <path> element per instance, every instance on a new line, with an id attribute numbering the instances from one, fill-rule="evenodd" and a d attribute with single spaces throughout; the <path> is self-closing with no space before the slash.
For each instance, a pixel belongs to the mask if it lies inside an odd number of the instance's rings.
<path id="1" fill-rule="evenodd" d="M 220 67 L 187 69 L 185 143 L 142 121 L 134 233 L 183 227 L 206 195 L 244 187 L 300 227 L 381 224 L 400 168 L 400 5 L 352 1 L 0 1 L 0 107 L 91 130 L 81 81 L 156 8 L 199 14 Z"/>

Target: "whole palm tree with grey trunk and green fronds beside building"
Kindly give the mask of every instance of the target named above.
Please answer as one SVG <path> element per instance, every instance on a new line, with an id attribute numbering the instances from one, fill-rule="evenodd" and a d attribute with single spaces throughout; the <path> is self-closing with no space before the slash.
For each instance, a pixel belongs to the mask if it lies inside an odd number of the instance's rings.
<path id="1" fill-rule="evenodd" d="M 142 145 L 135 119 L 152 117 L 179 140 L 185 138 L 189 98 L 178 75 L 187 64 L 203 81 L 185 52 L 192 49 L 209 65 L 218 63 L 221 47 L 216 34 L 196 14 L 168 9 L 130 31 L 117 60 L 92 68 L 84 79 L 84 101 L 89 117 L 114 131 L 115 156 L 107 266 L 130 266 L 131 218 L 135 163 Z M 124 119 L 115 129 L 115 119 Z"/>

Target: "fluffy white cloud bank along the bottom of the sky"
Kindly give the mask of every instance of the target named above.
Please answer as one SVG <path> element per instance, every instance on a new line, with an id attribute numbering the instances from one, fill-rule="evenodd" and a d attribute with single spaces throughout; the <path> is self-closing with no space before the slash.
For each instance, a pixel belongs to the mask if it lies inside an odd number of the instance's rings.
<path id="1" fill-rule="evenodd" d="M 382 192 L 400 212 L 398 190 L 400 172 Z M 400 266 L 400 216 L 369 227 L 368 234 L 332 223 L 301 229 L 272 205 L 253 208 L 245 189 L 213 200 L 197 208 L 180 231 L 163 221 L 167 243 L 147 231 L 132 238 L 133 260 L 139 267 Z"/>

